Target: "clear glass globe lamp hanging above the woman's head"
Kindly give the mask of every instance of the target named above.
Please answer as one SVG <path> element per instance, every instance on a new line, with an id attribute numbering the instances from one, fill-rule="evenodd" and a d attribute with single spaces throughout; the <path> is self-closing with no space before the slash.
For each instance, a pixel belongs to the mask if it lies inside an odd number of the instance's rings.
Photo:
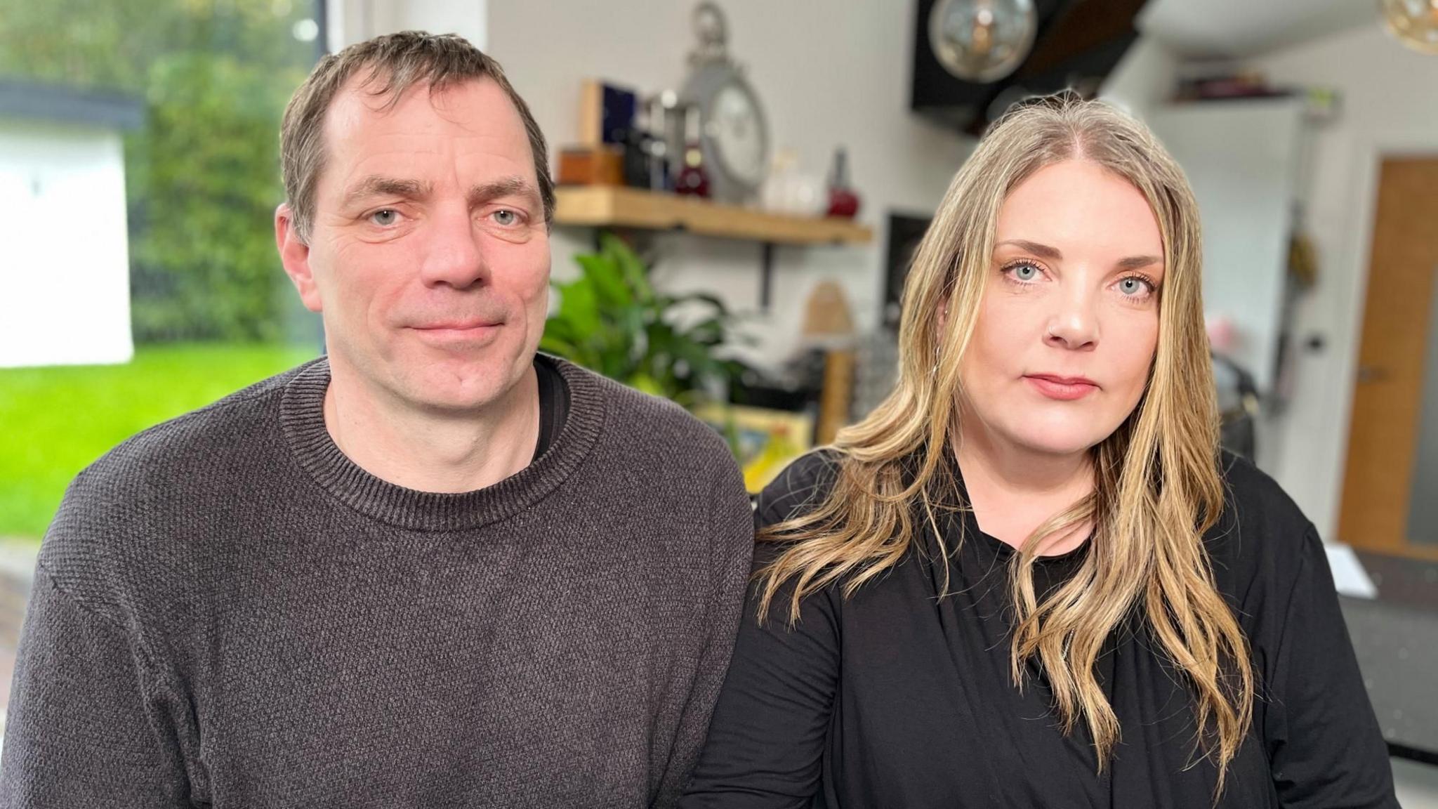
<path id="1" fill-rule="evenodd" d="M 1034 0 L 939 0 L 929 12 L 929 46 L 943 69 L 968 82 L 995 82 L 1034 46 Z"/>

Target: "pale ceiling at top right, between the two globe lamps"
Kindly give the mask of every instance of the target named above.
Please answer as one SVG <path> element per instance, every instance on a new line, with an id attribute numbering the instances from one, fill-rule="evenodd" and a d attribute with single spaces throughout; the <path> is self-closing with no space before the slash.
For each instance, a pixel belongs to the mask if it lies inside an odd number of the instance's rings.
<path id="1" fill-rule="evenodd" d="M 1179 56 L 1228 59 L 1378 20 L 1376 0 L 1149 0 L 1137 29 Z"/>

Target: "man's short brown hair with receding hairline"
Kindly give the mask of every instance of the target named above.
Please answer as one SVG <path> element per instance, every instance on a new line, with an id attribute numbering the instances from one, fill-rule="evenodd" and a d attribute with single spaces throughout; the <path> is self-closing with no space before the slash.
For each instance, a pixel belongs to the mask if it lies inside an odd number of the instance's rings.
<path id="1" fill-rule="evenodd" d="M 525 122 L 529 151 L 535 160 L 535 177 L 539 180 L 539 199 L 544 202 L 544 219 L 546 223 L 554 220 L 554 178 L 549 176 L 544 132 L 529 112 L 529 105 L 505 78 L 499 62 L 462 36 L 406 30 L 377 36 L 351 45 L 339 53 L 326 55 L 315 65 L 305 83 L 299 85 L 285 108 L 279 131 L 280 167 L 285 176 L 285 194 L 295 216 L 295 232 L 302 242 L 309 242 L 315 220 L 315 186 L 325 166 L 325 112 L 329 111 L 329 104 L 339 88 L 358 71 L 368 71 L 362 88 L 371 95 L 388 96 L 385 108 L 398 104 L 404 92 L 416 85 L 434 91 L 456 82 L 493 79 L 515 104 L 519 118 Z"/>

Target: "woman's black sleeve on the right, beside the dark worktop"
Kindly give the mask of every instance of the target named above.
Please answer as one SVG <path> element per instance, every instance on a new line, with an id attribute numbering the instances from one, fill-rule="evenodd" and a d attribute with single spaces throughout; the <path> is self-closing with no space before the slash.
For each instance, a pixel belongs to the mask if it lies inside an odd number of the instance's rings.
<path id="1" fill-rule="evenodd" d="M 1395 808 L 1393 776 L 1333 574 L 1309 525 L 1267 672 L 1264 743 L 1280 805 Z"/>

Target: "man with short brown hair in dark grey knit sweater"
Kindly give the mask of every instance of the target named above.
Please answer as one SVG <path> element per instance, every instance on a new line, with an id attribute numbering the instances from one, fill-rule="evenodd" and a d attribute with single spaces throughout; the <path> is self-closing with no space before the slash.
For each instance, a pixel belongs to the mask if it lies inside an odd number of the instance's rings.
<path id="1" fill-rule="evenodd" d="M 279 253 L 328 360 L 82 472 L 40 550 L 3 806 L 667 806 L 752 517 L 723 440 L 536 356 L 554 190 L 453 36 L 328 56 Z"/>

